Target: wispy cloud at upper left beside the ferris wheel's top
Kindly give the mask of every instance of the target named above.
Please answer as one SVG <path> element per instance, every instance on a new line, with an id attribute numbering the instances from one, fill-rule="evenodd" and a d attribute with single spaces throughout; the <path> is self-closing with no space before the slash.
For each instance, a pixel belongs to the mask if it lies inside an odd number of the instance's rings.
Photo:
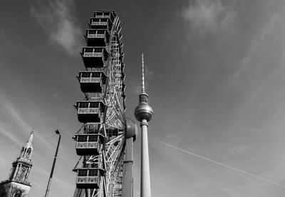
<path id="1" fill-rule="evenodd" d="M 31 5 L 31 14 L 46 31 L 52 43 L 62 46 L 70 55 L 82 46 L 81 31 L 72 13 L 73 1 L 37 1 Z"/>

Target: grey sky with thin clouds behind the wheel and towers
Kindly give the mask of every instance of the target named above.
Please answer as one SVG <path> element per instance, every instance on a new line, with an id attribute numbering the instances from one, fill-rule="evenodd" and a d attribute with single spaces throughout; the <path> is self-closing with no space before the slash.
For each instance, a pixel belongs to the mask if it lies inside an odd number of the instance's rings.
<path id="1" fill-rule="evenodd" d="M 87 23 L 100 9 L 120 17 L 126 115 L 134 120 L 144 53 L 154 110 L 152 196 L 284 196 L 283 0 L 4 0 L 0 180 L 8 178 L 34 128 L 30 196 L 43 196 L 58 129 L 49 196 L 73 196 L 78 156 L 72 136 L 81 127 L 73 104 L 84 98 L 76 79 L 84 69 L 79 53 Z M 140 132 L 133 172 L 134 196 L 140 196 Z"/>

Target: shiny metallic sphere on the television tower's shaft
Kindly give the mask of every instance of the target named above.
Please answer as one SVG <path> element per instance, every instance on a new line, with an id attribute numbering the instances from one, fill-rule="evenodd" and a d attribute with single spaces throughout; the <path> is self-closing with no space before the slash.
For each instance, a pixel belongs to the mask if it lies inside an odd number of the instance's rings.
<path id="1" fill-rule="evenodd" d="M 152 116 L 152 107 L 146 102 L 139 103 L 135 108 L 135 118 L 140 122 L 142 122 L 142 120 L 146 120 L 148 122 L 151 120 Z"/>

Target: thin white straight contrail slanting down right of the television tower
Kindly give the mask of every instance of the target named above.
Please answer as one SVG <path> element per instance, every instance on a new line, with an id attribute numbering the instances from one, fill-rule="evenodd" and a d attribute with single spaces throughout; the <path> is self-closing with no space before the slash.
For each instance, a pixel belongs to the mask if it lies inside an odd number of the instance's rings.
<path id="1" fill-rule="evenodd" d="M 253 173 L 248 173 L 248 172 L 246 172 L 246 171 L 242 171 L 242 170 L 240 170 L 240 169 L 238 169 L 238 168 L 234 168 L 234 167 L 232 167 L 232 166 L 228 166 L 228 165 L 226 165 L 226 164 L 224 164 L 224 163 L 221 163 L 221 162 L 219 162 L 219 161 L 214 161 L 214 160 L 212 160 L 212 159 L 210 159 L 210 158 L 206 158 L 206 157 L 204 157 L 204 156 L 199 156 L 199 155 L 197 155 L 197 154 L 195 154 L 195 153 L 191 153 L 191 152 L 189 152 L 189 151 L 185 151 L 185 150 L 183 150 L 183 149 L 181 149 L 181 148 L 177 148 L 177 147 L 175 147 L 175 146 L 172 146 L 172 145 L 170 145 L 170 144 L 167 144 L 167 143 L 164 143 L 164 142 L 161 142 L 161 141 L 160 141 L 160 143 L 164 144 L 165 146 L 169 146 L 169 147 L 171 147 L 171 148 L 175 148 L 175 149 L 177 149 L 177 150 L 179 150 L 179 151 L 182 151 L 182 152 L 184 152 L 184 153 L 188 153 L 188 154 L 190 154 L 190 155 L 192 155 L 192 156 L 197 156 L 197 157 L 202 158 L 202 159 L 204 159 L 204 160 L 211 161 L 212 163 L 216 163 L 216 164 L 218 164 L 218 165 L 220 165 L 220 166 L 227 167 L 227 168 L 229 168 L 229 169 L 232 169 L 232 170 L 234 170 L 234 171 L 238 171 L 238 172 L 240 172 L 240 173 L 245 173 L 245 174 L 247 174 L 247 175 L 249 175 L 249 176 L 258 178 L 258 179 L 260 179 L 260 180 L 262 180 L 262 181 L 266 181 L 267 183 L 271 183 L 271 184 L 274 184 L 274 185 L 279 186 L 279 187 L 281 187 L 281 188 L 285 188 L 285 186 L 283 186 L 283 185 L 281 185 L 281 184 L 279 184 L 279 183 L 276 183 L 276 182 L 274 182 L 274 181 L 270 181 L 270 180 L 268 180 L 268 179 L 266 179 L 266 178 L 262 178 L 261 176 L 254 175 Z"/>

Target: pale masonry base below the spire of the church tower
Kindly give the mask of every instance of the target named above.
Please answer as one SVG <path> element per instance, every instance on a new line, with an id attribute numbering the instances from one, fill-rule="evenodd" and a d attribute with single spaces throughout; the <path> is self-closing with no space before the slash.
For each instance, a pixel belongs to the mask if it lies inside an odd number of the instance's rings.
<path id="1" fill-rule="evenodd" d="M 2 181 L 0 183 L 0 197 L 28 197 L 31 185 L 16 181 Z"/>

